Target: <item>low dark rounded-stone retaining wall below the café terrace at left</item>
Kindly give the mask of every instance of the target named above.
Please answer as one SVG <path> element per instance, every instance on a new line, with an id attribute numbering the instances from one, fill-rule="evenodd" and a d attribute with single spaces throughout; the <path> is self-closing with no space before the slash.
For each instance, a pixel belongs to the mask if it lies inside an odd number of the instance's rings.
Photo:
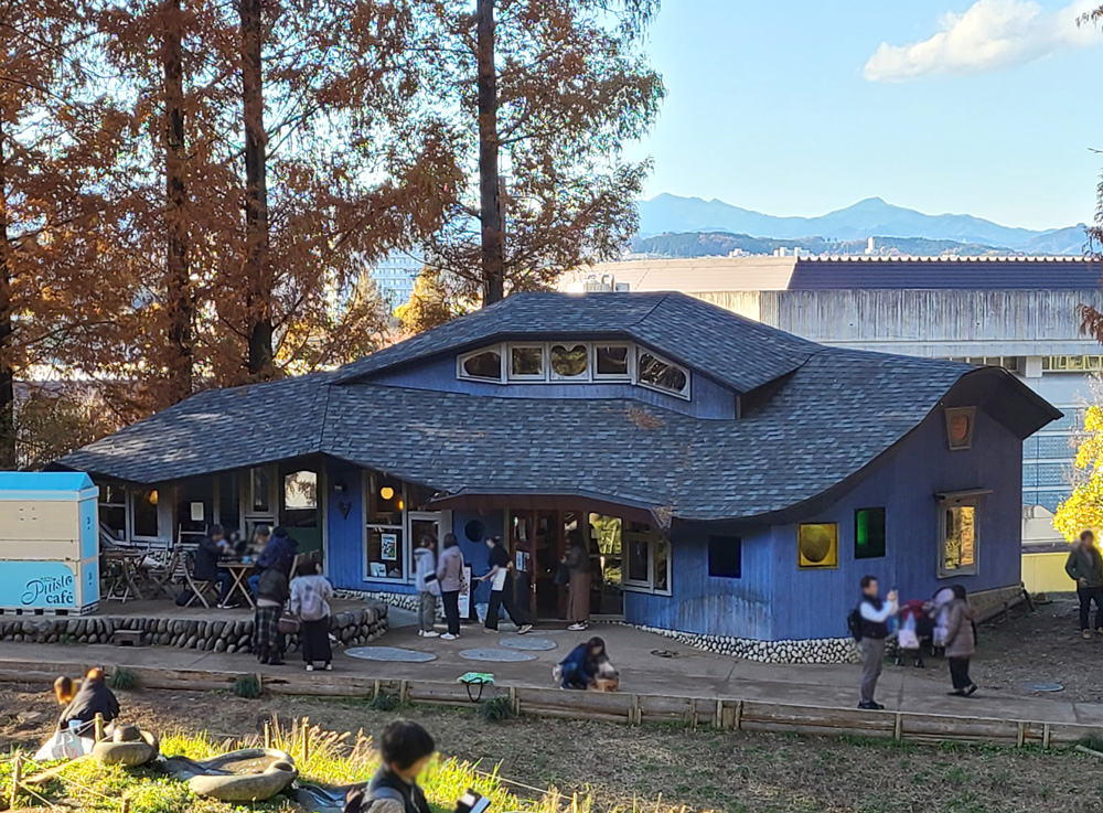
<path id="1" fill-rule="evenodd" d="M 172 619 L 93 616 L 86 618 L 0 618 L 0 641 L 33 643 L 111 643 L 116 630 L 142 631 L 146 643 L 207 652 L 251 652 L 253 618 Z M 387 632 L 387 606 L 372 605 L 330 617 L 330 632 L 339 645 L 358 646 Z M 288 637 L 296 652 L 299 637 Z"/>

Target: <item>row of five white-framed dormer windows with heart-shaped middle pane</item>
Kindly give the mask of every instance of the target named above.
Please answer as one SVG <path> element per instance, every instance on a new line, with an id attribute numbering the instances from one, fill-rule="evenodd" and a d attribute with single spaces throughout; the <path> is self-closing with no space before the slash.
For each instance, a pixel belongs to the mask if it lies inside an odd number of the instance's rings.
<path id="1" fill-rule="evenodd" d="M 689 399 L 689 371 L 632 342 L 504 342 L 460 355 L 456 375 L 493 384 L 639 384 Z"/>

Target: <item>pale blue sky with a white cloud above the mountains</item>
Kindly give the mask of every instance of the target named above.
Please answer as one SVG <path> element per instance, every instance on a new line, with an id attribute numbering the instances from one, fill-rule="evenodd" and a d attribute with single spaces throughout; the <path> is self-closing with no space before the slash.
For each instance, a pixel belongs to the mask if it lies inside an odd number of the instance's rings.
<path id="1" fill-rule="evenodd" d="M 664 0 L 646 196 L 816 215 L 880 196 L 1048 228 L 1090 221 L 1100 0 Z M 885 45 L 882 45 L 885 43 Z"/>

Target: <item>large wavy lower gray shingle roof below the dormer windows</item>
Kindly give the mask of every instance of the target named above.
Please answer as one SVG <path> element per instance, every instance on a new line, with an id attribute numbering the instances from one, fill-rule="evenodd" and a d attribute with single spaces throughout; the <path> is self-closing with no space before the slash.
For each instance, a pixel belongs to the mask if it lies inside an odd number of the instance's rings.
<path id="1" fill-rule="evenodd" d="M 1022 398 L 1020 431 L 1054 417 L 1002 371 L 825 347 L 739 420 L 315 375 L 195 396 L 61 462 L 158 482 L 322 452 L 448 493 L 586 493 L 682 518 L 751 517 L 855 474 L 982 375 Z"/>

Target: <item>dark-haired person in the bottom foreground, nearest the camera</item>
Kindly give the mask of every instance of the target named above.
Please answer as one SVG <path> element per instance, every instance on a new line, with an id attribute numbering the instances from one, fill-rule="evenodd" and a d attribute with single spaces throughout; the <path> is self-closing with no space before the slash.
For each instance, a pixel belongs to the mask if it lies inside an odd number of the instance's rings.
<path id="1" fill-rule="evenodd" d="M 417 723 L 388 724 L 383 729 L 379 770 L 367 788 L 349 793 L 344 813 L 430 813 L 417 778 L 436 750 L 432 737 Z"/>

